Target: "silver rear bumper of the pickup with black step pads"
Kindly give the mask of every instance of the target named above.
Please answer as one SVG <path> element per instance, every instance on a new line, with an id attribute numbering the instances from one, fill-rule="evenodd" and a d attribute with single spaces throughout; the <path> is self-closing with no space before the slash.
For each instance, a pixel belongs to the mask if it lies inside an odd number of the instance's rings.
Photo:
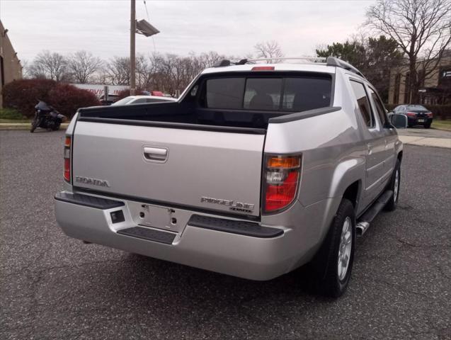
<path id="1" fill-rule="evenodd" d="M 173 232 L 137 225 L 130 203 L 63 192 L 55 196 L 55 214 L 69 237 L 251 280 L 287 273 L 299 259 L 290 228 L 178 210 L 187 222 Z M 113 223 L 110 213 L 118 210 L 123 219 Z"/>

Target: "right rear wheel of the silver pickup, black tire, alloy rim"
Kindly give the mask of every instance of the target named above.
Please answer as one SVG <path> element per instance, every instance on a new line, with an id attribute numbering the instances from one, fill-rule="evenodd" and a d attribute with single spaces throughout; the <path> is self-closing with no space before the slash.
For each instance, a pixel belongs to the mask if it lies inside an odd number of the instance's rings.
<path id="1" fill-rule="evenodd" d="M 354 249 L 354 206 L 350 200 L 343 198 L 331 229 L 312 261 L 319 293 L 329 297 L 339 297 L 345 293 L 353 268 Z"/>

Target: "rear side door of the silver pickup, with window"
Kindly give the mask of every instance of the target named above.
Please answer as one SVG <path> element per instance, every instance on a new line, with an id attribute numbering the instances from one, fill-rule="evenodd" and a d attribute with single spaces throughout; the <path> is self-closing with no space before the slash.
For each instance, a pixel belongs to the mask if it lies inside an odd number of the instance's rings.
<path id="1" fill-rule="evenodd" d="M 372 203 L 382 191 L 385 160 L 385 136 L 372 111 L 365 84 L 350 79 L 355 95 L 355 111 L 360 119 L 362 142 L 365 145 L 365 179 L 360 207 Z"/>

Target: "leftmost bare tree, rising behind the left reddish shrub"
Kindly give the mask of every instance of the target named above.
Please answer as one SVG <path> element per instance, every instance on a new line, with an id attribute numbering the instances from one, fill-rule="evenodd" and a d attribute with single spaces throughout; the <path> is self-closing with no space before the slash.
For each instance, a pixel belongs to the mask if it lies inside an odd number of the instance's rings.
<path id="1" fill-rule="evenodd" d="M 34 78 L 68 81 L 67 60 L 59 53 L 49 51 L 40 52 L 28 67 L 28 74 Z"/>

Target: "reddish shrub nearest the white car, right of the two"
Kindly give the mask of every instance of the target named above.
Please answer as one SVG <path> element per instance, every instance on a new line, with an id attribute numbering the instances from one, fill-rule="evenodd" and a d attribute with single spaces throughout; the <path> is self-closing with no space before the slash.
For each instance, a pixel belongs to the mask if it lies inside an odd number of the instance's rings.
<path id="1" fill-rule="evenodd" d="M 50 90 L 48 103 L 67 118 L 72 118 L 79 108 L 101 105 L 95 94 L 70 84 L 57 84 Z"/>

